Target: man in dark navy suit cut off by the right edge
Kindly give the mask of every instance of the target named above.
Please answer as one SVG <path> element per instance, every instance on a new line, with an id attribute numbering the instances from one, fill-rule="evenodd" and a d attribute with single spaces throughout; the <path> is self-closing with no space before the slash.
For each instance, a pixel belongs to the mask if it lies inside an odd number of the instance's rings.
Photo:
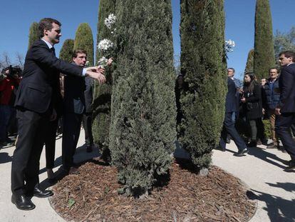
<path id="1" fill-rule="evenodd" d="M 282 66 L 279 78 L 279 90 L 281 93 L 279 104 L 276 105 L 276 133 L 281 138 L 284 149 L 291 156 L 289 166 L 286 169 L 295 169 L 295 141 L 289 131 L 292 123 L 295 123 L 295 53 L 283 51 L 279 54 L 279 62 Z"/>

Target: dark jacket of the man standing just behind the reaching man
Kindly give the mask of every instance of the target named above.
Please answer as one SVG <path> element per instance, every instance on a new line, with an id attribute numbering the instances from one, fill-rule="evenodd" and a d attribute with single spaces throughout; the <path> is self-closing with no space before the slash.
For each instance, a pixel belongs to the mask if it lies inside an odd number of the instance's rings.
<path id="1" fill-rule="evenodd" d="M 77 66 L 75 63 L 72 64 Z M 83 76 L 65 76 L 63 113 L 82 114 L 86 111 L 84 96 L 86 85 L 84 79 Z"/>

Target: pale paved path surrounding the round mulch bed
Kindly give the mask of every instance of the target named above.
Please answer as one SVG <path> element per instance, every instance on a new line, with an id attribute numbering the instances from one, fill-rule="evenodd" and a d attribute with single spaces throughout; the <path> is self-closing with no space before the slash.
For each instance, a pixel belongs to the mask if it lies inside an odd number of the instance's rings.
<path id="1" fill-rule="evenodd" d="M 86 160 L 98 156 L 97 150 L 86 153 L 83 147 L 83 131 L 79 140 L 76 160 Z M 214 151 L 213 163 L 241 178 L 248 184 L 258 200 L 258 210 L 251 222 L 295 221 L 295 171 L 287 173 L 281 160 L 289 160 L 289 155 L 276 150 L 266 150 L 265 146 L 251 148 L 249 155 L 238 158 L 232 154 L 237 151 L 234 143 L 227 146 L 227 151 Z M 51 222 L 63 221 L 53 211 L 48 199 L 33 198 L 36 208 L 33 211 L 19 211 L 10 201 L 10 171 L 13 148 L 0 150 L 0 221 Z M 56 142 L 56 168 L 61 165 L 61 139 Z M 46 178 L 45 153 L 41 157 L 40 181 Z M 46 185 L 46 184 L 45 184 Z"/>

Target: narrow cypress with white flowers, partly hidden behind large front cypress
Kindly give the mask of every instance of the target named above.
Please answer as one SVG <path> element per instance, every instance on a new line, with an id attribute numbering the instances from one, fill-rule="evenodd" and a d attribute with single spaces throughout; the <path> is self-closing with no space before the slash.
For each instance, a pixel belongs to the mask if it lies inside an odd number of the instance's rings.
<path id="1" fill-rule="evenodd" d="M 97 45 L 102 39 L 112 39 L 110 30 L 104 24 L 105 18 L 107 18 L 109 14 L 115 14 L 115 0 L 100 0 Z M 103 52 L 96 50 L 96 61 L 98 61 L 102 56 L 105 56 L 103 55 Z M 93 139 L 94 143 L 98 144 L 103 159 L 106 162 L 109 162 L 110 151 L 108 144 L 110 128 L 110 101 L 112 94 L 111 70 L 106 70 L 105 78 L 107 79 L 105 84 L 100 85 L 95 83 L 94 85 Z"/>

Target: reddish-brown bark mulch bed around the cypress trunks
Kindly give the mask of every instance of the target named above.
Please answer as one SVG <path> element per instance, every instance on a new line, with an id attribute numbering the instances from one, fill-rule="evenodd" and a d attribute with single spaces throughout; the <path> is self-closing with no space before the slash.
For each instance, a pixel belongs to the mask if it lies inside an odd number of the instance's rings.
<path id="1" fill-rule="evenodd" d="M 257 203 L 238 178 L 217 166 L 198 176 L 173 163 L 170 181 L 145 198 L 118 195 L 117 171 L 99 162 L 83 164 L 53 186 L 51 206 L 67 221 L 249 221 Z"/>

